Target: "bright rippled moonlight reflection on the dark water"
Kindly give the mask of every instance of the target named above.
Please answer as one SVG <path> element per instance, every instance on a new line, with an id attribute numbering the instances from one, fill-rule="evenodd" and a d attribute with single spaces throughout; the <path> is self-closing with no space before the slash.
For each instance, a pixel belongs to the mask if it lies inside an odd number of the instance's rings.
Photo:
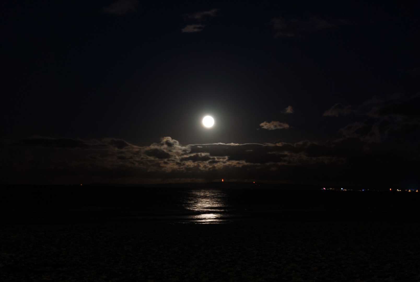
<path id="1" fill-rule="evenodd" d="M 223 191 L 192 190 L 187 192 L 183 206 L 197 213 L 188 216 L 190 222 L 222 223 L 226 222 L 223 215 L 229 211 L 226 199 L 227 194 Z"/>

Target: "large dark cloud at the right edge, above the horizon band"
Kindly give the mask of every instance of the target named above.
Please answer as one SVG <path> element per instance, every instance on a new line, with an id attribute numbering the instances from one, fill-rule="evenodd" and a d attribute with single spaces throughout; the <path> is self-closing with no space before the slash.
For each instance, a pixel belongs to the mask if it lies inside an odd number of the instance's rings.
<path id="1" fill-rule="evenodd" d="M 358 138 L 365 146 L 393 151 L 408 158 L 417 159 L 420 151 L 420 95 L 406 98 L 402 94 L 389 95 L 385 99 L 373 97 L 363 104 L 352 107 L 334 105 L 324 115 L 366 116 L 363 122 L 355 122 L 341 128 L 343 138 Z M 366 147 L 368 148 L 368 147 Z"/>

